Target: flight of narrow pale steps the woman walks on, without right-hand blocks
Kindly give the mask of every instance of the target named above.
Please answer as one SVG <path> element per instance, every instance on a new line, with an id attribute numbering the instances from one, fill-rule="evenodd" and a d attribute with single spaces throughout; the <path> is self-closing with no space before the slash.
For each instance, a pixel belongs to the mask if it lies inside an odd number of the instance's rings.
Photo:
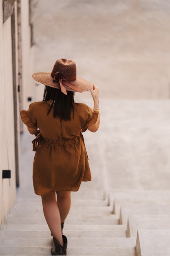
<path id="1" fill-rule="evenodd" d="M 108 200 L 73 200 L 64 224 L 67 255 L 135 256 L 136 238 L 127 238 Z M 52 237 L 40 198 L 18 199 L 0 231 L 0 256 L 51 255 Z"/>

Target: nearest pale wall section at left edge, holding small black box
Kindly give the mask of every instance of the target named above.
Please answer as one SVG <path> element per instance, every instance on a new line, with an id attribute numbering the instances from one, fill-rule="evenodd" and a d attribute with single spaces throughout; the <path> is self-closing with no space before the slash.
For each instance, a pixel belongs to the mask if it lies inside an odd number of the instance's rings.
<path id="1" fill-rule="evenodd" d="M 0 1 L 2 6 L 2 1 Z M 13 118 L 13 73 L 11 18 L 4 24 L 0 8 L 0 220 L 3 222 L 15 201 L 15 149 Z M 11 179 L 2 180 L 2 170 L 11 170 Z"/>

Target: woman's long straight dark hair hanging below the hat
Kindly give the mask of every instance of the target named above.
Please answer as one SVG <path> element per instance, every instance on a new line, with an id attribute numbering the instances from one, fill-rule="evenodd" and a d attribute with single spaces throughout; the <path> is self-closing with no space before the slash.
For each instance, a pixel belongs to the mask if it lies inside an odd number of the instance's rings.
<path id="1" fill-rule="evenodd" d="M 67 95 L 65 95 L 61 92 L 60 89 L 45 86 L 43 101 L 52 101 L 52 104 L 49 105 L 50 107 L 47 115 L 54 106 L 53 117 L 60 117 L 61 119 L 64 119 L 66 121 L 71 120 L 72 111 L 74 115 L 74 94 L 75 92 L 67 91 Z"/>

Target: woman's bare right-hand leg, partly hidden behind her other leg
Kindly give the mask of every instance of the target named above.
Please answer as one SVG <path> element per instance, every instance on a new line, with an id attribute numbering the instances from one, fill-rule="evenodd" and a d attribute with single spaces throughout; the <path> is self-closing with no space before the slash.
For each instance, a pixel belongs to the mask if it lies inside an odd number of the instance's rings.
<path id="1" fill-rule="evenodd" d="M 57 191 L 57 206 L 60 211 L 61 223 L 63 223 L 70 211 L 71 191 Z"/>

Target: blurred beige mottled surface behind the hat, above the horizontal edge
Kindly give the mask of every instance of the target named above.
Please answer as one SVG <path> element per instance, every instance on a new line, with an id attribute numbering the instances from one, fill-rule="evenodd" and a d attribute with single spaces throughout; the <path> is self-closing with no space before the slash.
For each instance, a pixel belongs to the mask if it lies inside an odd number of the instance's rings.
<path id="1" fill-rule="evenodd" d="M 68 58 L 100 97 L 170 97 L 169 0 L 32 0 L 31 11 L 35 72 Z"/>

